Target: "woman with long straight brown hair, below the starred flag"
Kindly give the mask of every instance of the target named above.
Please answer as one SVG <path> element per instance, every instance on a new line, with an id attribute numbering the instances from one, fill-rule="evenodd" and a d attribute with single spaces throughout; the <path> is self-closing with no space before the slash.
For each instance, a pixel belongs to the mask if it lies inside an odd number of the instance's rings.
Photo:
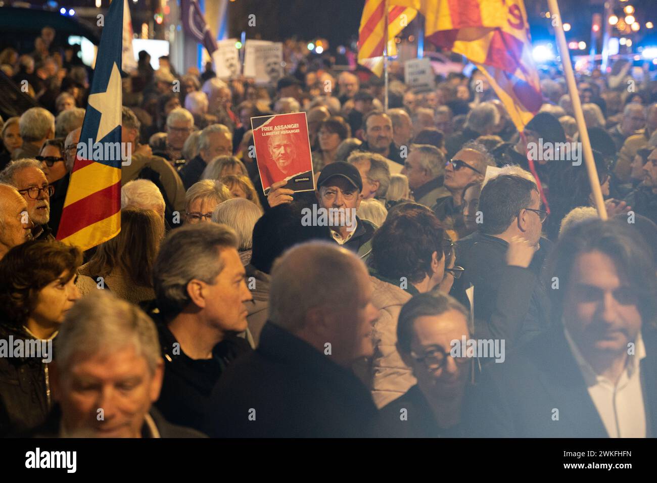
<path id="1" fill-rule="evenodd" d="M 162 237 L 164 221 L 153 210 L 121 210 L 120 233 L 79 268 L 82 296 L 104 288 L 133 304 L 154 299 L 152 267 Z"/>

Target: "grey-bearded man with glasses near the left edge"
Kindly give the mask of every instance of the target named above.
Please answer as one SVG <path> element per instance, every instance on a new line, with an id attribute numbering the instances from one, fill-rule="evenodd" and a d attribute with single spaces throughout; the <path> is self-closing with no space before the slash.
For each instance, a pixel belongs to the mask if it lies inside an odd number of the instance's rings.
<path id="1" fill-rule="evenodd" d="M 13 186 L 25 198 L 30 221 L 34 223 L 32 238 L 54 240 L 48 221 L 50 196 L 55 189 L 48 184 L 41 163 L 29 158 L 13 161 L 0 173 L 0 183 Z"/>

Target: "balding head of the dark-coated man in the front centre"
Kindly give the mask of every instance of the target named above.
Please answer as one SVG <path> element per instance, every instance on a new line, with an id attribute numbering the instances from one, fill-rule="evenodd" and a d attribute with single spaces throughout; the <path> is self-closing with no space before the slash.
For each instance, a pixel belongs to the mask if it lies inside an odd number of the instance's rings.
<path id="1" fill-rule="evenodd" d="M 365 264 L 334 243 L 297 245 L 271 271 L 269 320 L 347 365 L 372 352 L 371 304 Z"/>

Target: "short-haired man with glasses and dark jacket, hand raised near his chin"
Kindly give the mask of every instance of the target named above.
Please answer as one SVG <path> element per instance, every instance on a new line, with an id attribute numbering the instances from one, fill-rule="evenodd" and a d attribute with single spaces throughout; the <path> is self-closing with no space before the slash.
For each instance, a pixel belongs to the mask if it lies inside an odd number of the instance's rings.
<path id="1" fill-rule="evenodd" d="M 480 195 L 479 231 L 457 242 L 456 265 L 465 271 L 452 293 L 466 304 L 465 290 L 474 285 L 475 336 L 505 339 L 507 349 L 532 338 L 549 320 L 549 302 L 539 280 L 548 248 L 541 239 L 546 213 L 530 176 L 490 179 Z M 510 260 L 510 245 L 531 250 Z"/>

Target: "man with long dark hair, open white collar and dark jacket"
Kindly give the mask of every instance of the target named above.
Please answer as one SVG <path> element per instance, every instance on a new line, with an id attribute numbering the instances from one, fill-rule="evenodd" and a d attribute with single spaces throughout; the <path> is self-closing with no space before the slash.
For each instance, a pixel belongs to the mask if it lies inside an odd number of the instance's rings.
<path id="1" fill-rule="evenodd" d="M 650 249 L 627 223 L 592 219 L 570 227 L 553 254 L 553 327 L 484 370 L 466 411 L 470 434 L 654 437 L 657 287 Z"/>

